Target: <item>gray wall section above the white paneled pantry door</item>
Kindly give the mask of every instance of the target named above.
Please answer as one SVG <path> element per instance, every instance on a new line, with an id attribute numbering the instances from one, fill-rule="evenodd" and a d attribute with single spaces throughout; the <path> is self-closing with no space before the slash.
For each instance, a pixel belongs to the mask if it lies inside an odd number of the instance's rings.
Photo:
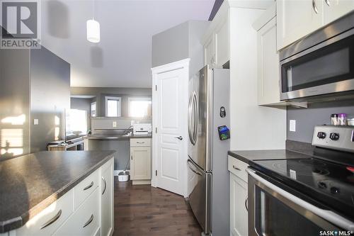
<path id="1" fill-rule="evenodd" d="M 202 35 L 209 21 L 187 21 L 152 36 L 152 67 L 190 58 L 190 76 L 203 66 Z"/>

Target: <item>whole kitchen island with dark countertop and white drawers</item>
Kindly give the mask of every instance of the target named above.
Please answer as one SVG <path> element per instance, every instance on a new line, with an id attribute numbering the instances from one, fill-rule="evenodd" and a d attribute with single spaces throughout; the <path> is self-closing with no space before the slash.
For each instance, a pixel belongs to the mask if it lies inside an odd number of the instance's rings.
<path id="1" fill-rule="evenodd" d="M 38 152 L 1 161 L 0 234 L 112 235 L 114 153 Z"/>

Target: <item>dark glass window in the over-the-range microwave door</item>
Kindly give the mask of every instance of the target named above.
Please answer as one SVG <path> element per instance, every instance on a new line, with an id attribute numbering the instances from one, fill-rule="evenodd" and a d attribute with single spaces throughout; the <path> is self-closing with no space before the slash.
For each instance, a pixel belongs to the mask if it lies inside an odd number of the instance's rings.
<path id="1" fill-rule="evenodd" d="M 354 79 L 354 36 L 282 64 L 281 74 L 283 93 Z"/>

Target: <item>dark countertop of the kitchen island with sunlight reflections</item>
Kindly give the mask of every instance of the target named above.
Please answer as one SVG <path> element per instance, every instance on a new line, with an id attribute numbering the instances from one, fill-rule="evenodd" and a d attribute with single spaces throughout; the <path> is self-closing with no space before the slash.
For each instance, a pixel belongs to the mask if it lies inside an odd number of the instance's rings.
<path id="1" fill-rule="evenodd" d="M 0 233 L 25 225 L 114 153 L 38 152 L 0 161 Z"/>

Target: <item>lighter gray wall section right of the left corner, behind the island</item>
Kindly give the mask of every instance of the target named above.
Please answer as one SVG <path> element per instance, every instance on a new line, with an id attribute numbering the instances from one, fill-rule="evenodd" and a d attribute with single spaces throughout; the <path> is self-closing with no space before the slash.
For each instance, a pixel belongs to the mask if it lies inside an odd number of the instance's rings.
<path id="1" fill-rule="evenodd" d="M 30 51 L 30 152 L 47 149 L 47 142 L 64 139 L 65 109 L 70 108 L 70 64 L 42 47 Z M 55 124 L 55 117 L 59 125 Z M 33 119 L 39 125 L 33 125 Z M 55 134 L 59 128 L 59 135 Z"/>

